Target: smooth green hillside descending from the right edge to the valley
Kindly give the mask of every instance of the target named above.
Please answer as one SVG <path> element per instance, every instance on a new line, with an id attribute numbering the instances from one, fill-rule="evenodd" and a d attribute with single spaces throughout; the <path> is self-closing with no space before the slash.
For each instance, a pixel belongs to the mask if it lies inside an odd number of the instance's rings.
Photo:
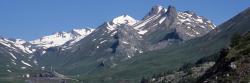
<path id="1" fill-rule="evenodd" d="M 249 20 L 248 8 L 203 37 L 146 52 L 116 68 L 100 70 L 87 77 L 139 82 L 143 76 L 176 70 L 185 63 L 195 63 L 202 57 L 213 55 L 221 48 L 228 47 L 233 34 L 244 34 L 250 30 Z"/>

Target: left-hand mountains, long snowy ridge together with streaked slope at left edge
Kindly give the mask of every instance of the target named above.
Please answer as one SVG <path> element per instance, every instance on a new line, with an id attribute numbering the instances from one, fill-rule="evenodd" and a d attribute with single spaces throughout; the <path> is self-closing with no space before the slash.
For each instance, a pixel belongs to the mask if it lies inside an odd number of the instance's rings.
<path id="1" fill-rule="evenodd" d="M 90 28 L 73 29 L 70 32 L 57 32 L 34 41 L 0 37 L 1 79 L 26 77 L 32 71 L 43 70 L 45 67 L 35 56 L 41 55 L 51 47 L 69 47 L 93 31 L 94 29 Z"/>

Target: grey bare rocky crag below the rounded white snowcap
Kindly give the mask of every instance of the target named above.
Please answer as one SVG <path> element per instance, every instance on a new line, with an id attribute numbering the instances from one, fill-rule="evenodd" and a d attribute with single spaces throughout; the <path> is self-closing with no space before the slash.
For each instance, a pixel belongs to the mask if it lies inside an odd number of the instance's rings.
<path id="1" fill-rule="evenodd" d="M 132 58 L 136 53 L 143 53 L 143 39 L 131 26 L 121 26 L 117 36 L 117 55 L 126 55 Z"/>

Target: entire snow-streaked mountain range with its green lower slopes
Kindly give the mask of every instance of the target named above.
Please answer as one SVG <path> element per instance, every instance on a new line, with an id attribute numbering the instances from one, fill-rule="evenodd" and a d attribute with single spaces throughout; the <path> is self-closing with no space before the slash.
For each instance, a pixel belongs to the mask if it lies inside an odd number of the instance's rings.
<path id="1" fill-rule="evenodd" d="M 0 72 L 4 72 L 3 77 L 10 73 L 20 77 L 35 70 L 54 70 L 91 83 L 140 82 L 142 77 L 185 69 L 186 63 L 216 56 L 221 48 L 230 45 L 233 34 L 250 30 L 249 11 L 248 8 L 215 28 L 210 20 L 192 11 L 180 12 L 173 6 L 157 5 L 140 20 L 121 15 L 96 29 L 57 32 L 33 41 L 1 38 Z M 218 70 L 221 66 L 218 64 L 192 66 L 196 69 L 192 72 L 198 73 L 178 70 L 170 78 L 177 74 L 186 82 L 193 75 L 199 77 L 205 73 L 201 81 L 214 81 L 213 76 L 220 75 L 206 70 Z"/>

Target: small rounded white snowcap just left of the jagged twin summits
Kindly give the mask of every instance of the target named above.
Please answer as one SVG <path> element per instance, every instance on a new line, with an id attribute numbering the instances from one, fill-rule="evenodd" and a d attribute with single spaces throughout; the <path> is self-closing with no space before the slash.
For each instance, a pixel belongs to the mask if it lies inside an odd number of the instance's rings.
<path id="1" fill-rule="evenodd" d="M 122 15 L 114 18 L 112 20 L 112 23 L 114 24 L 128 24 L 128 25 L 133 25 L 137 22 L 134 18 L 132 18 L 129 15 Z"/>

